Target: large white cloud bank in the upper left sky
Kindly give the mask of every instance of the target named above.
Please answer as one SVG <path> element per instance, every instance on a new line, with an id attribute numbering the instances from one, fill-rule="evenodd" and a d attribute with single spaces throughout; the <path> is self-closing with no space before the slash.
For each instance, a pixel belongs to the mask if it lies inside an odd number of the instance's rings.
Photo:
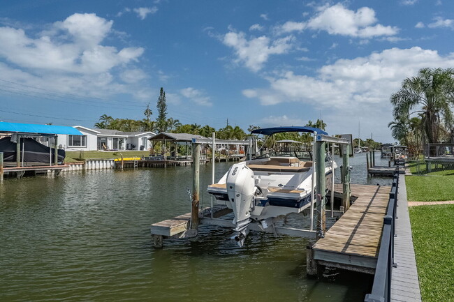
<path id="1" fill-rule="evenodd" d="M 38 36 L 0 27 L 0 77 L 82 96 L 138 91 L 147 75 L 134 64 L 144 50 L 103 45 L 105 38 L 115 36 L 112 25 L 93 13 L 75 13 Z"/>

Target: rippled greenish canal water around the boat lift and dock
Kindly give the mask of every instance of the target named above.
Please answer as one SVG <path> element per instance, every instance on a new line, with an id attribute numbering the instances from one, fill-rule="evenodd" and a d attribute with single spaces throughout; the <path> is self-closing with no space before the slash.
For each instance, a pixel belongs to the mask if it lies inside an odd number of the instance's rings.
<path id="1" fill-rule="evenodd" d="M 229 165 L 217 164 L 217 179 Z M 367 179 L 364 154 L 351 165 L 352 183 L 390 183 Z M 200 172 L 206 188 L 211 165 Z M 197 241 L 154 249 L 149 225 L 189 212 L 186 188 L 191 167 L 6 179 L 0 301 L 363 301 L 370 291 L 361 273 L 307 278 L 307 239 L 251 233 L 238 248 L 228 229 L 202 227 Z"/>

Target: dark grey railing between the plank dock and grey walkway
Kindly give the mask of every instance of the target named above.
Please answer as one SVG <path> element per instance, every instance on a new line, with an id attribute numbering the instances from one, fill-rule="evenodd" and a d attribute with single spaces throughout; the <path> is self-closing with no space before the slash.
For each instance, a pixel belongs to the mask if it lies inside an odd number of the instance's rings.
<path id="1" fill-rule="evenodd" d="M 397 211 L 397 190 L 399 188 L 399 173 L 395 172 L 393 187 L 389 193 L 388 210 L 383 218 L 383 233 L 381 235 L 379 258 L 376 262 L 374 285 L 372 293 L 365 296 L 365 302 L 390 301 L 391 275 L 394 262 L 395 219 Z"/>

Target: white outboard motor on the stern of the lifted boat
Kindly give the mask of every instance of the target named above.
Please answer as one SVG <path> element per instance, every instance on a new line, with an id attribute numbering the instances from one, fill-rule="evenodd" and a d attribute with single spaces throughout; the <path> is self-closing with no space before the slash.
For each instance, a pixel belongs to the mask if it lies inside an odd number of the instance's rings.
<path id="1" fill-rule="evenodd" d="M 251 222 L 251 209 L 254 206 L 254 192 L 256 192 L 254 172 L 242 164 L 230 167 L 227 175 L 227 195 L 235 215 L 233 223 L 236 224 L 232 239 L 242 246 Z"/>

